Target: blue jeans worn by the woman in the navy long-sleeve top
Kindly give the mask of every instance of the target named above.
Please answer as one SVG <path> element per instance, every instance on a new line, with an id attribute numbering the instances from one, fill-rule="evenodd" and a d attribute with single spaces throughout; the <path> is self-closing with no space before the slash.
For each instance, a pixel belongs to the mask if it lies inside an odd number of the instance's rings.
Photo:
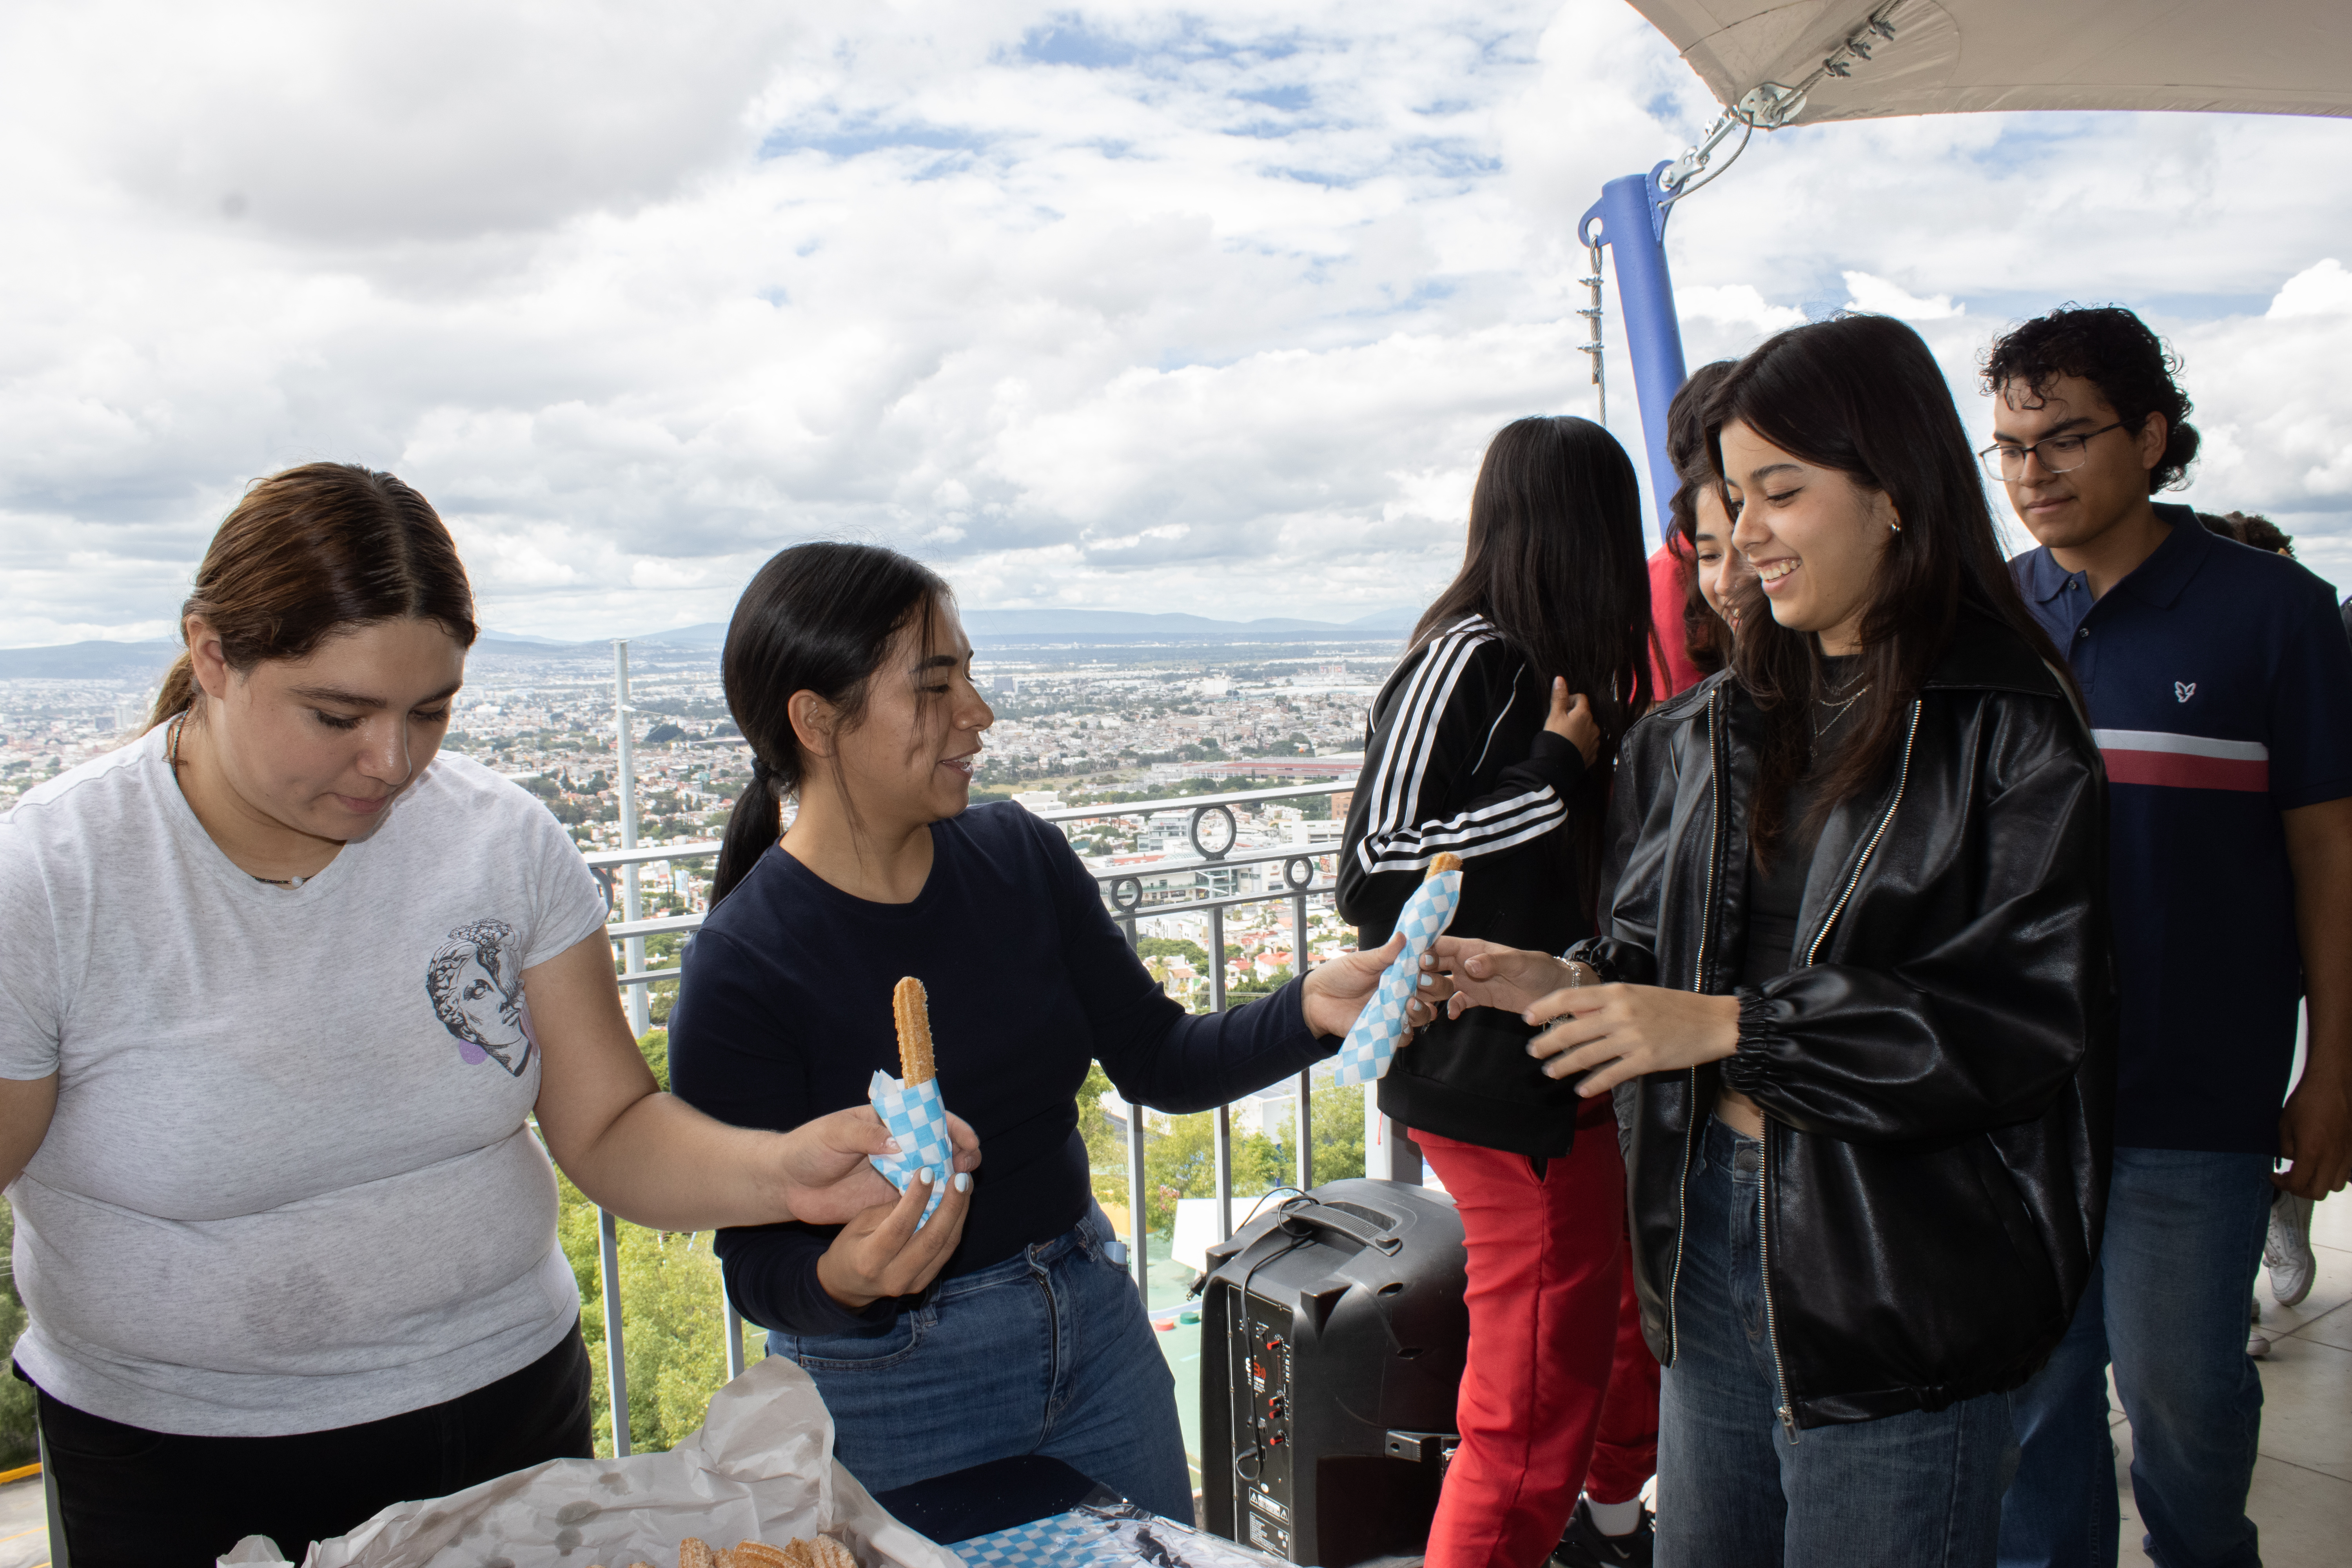
<path id="1" fill-rule="evenodd" d="M 870 1493 L 1042 1453 L 1169 1519 L 1192 1519 L 1176 1378 L 1103 1211 L 873 1333 L 769 1333 L 833 1413 L 833 1458 Z"/>

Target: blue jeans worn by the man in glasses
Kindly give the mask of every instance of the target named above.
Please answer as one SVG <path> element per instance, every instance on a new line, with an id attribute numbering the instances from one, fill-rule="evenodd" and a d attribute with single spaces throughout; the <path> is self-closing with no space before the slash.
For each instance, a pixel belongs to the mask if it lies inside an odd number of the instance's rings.
<path id="1" fill-rule="evenodd" d="M 2110 1356 L 2147 1554 L 2164 1568 L 2263 1561 L 2246 1519 L 2263 1432 L 2246 1300 L 2272 1192 L 2267 1154 L 2114 1152 L 2091 1288 L 2049 1366 L 2009 1396 L 2025 1467 L 2002 1512 L 2002 1568 L 2112 1568 Z"/>

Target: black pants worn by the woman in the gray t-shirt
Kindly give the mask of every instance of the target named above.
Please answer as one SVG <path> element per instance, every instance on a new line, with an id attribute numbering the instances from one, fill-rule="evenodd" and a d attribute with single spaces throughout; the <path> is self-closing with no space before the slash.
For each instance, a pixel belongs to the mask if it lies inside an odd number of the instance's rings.
<path id="1" fill-rule="evenodd" d="M 346 1535 L 393 1502 L 583 1460 L 588 1406 L 588 1347 L 574 1324 L 520 1373 L 358 1427 L 174 1436 L 40 1394 L 40 1432 L 73 1568 L 212 1568 L 247 1535 L 268 1535 L 299 1563 L 313 1540 Z"/>

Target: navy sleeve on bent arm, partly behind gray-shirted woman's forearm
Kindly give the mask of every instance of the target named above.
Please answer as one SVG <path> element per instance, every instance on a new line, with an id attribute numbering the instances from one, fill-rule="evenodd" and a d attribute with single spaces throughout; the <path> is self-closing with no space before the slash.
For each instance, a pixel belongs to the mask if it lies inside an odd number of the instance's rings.
<path id="1" fill-rule="evenodd" d="M 760 964 L 724 933 L 696 933 L 670 1009 L 670 1088 L 729 1126 L 795 1128 L 837 1105 L 811 1105 L 797 1051 L 779 1037 L 762 997 Z M 722 1229 L 713 1246 L 727 1295 L 753 1324 L 783 1333 L 847 1333 L 889 1321 L 896 1300 L 851 1312 L 826 1295 L 816 1260 L 837 1225 L 755 1225 Z"/>

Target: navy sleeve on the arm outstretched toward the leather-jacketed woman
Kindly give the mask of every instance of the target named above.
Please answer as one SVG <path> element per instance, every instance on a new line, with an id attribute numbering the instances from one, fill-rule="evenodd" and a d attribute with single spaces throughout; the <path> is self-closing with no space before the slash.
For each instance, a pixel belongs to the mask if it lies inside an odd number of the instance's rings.
<path id="1" fill-rule="evenodd" d="M 1183 1011 L 1127 945 L 1077 851 L 1044 823 L 1037 832 L 1094 1058 L 1131 1105 L 1214 1110 L 1338 1051 L 1308 1027 L 1303 978 L 1223 1013 Z"/>

